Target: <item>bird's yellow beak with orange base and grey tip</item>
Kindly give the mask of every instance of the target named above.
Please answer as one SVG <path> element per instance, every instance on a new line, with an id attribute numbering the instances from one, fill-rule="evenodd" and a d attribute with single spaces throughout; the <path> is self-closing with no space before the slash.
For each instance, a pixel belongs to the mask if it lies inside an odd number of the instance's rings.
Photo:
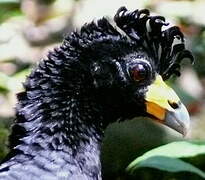
<path id="1" fill-rule="evenodd" d="M 186 107 L 172 88 L 167 86 L 160 75 L 148 86 L 146 111 L 159 122 L 186 135 L 190 118 Z"/>

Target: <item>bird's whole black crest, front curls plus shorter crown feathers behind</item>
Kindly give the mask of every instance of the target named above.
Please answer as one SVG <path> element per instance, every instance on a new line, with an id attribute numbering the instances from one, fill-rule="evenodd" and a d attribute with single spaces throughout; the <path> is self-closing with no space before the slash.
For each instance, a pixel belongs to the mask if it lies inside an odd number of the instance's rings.
<path id="1" fill-rule="evenodd" d="M 96 43 L 126 40 L 129 37 L 136 47 L 143 49 L 152 58 L 156 71 L 164 80 L 173 74 L 180 75 L 180 63 L 183 59 L 194 61 L 191 52 L 185 48 L 184 36 L 179 27 L 162 30 L 163 26 L 168 25 L 163 16 L 151 16 L 147 9 L 129 12 L 121 7 L 114 16 L 114 21 L 126 35 L 114 28 L 106 18 L 102 18 L 96 23 L 85 24 L 79 33 L 74 32 L 68 36 L 64 45 L 76 47 L 76 51 Z"/>

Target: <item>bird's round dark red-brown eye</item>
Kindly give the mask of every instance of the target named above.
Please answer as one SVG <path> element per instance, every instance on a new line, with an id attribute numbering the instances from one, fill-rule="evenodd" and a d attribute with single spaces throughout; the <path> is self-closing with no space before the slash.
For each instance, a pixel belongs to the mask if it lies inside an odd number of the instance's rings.
<path id="1" fill-rule="evenodd" d="M 134 81 L 139 82 L 147 78 L 148 67 L 143 64 L 135 64 L 130 67 L 129 73 Z"/>

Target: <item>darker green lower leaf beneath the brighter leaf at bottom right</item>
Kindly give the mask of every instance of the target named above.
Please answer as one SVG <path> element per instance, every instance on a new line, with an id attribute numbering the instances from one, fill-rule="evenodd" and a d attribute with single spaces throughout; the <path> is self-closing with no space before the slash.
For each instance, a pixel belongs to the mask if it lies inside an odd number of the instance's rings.
<path id="1" fill-rule="evenodd" d="M 202 178 L 205 178 L 205 173 L 195 166 L 184 162 L 181 159 L 175 159 L 165 156 L 154 156 L 147 158 L 146 160 L 141 161 L 134 167 L 132 167 L 132 169 L 130 169 L 130 172 L 133 173 L 136 169 L 143 167 L 156 168 L 169 172 L 190 172 L 198 174 Z"/>

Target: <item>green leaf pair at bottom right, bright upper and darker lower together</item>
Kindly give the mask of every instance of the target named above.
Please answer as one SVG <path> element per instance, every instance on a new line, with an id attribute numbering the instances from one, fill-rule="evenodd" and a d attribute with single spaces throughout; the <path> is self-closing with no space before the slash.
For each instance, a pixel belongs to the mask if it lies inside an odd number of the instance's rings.
<path id="1" fill-rule="evenodd" d="M 170 172 L 189 171 L 202 176 L 202 174 L 205 174 L 200 169 L 197 169 L 193 165 L 185 163 L 180 159 L 176 159 L 194 157 L 201 154 L 205 154 L 205 143 L 194 143 L 185 141 L 173 142 L 152 149 L 143 154 L 142 156 L 136 158 L 127 167 L 127 171 L 134 172 L 135 169 L 139 167 L 152 167 Z M 176 161 L 180 161 L 179 164 L 177 164 Z M 174 171 L 172 171 L 172 169 L 174 169 Z"/>

